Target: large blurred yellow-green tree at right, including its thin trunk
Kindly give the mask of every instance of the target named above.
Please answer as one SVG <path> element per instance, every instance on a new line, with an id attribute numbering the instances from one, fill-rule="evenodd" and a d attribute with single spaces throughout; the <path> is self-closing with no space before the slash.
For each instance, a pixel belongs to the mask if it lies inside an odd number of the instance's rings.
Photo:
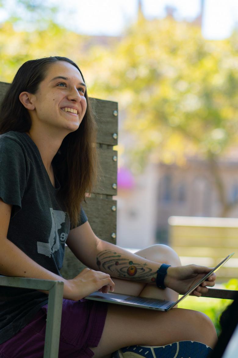
<path id="1" fill-rule="evenodd" d="M 194 24 L 141 17 L 103 55 L 94 82 L 95 94 L 117 98 L 126 111 L 133 161 L 143 166 L 151 154 L 168 164 L 193 155 L 208 161 L 221 216 L 237 205 L 228 202 L 219 168 L 238 140 L 237 55 L 238 33 L 209 41 Z"/>

